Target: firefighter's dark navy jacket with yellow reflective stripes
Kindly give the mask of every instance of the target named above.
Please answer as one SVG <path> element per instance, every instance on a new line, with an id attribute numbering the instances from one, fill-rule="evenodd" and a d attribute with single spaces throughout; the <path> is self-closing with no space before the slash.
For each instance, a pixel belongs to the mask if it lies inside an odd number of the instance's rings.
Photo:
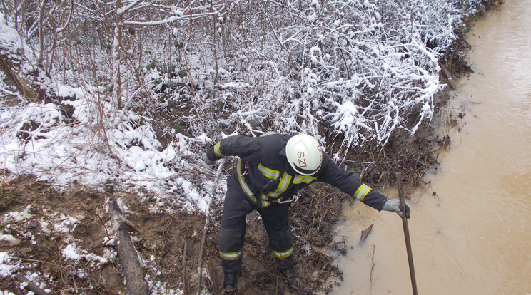
<path id="1" fill-rule="evenodd" d="M 341 169 L 323 152 L 323 165 L 314 175 L 298 175 L 285 157 L 285 145 L 293 135 L 265 133 L 251 138 L 232 135 L 207 149 L 210 160 L 238 156 L 233 174 L 243 192 L 258 204 L 267 207 L 278 200 L 289 199 L 311 182 L 326 182 L 346 194 L 380 211 L 387 197 L 363 184 L 355 172 Z"/>

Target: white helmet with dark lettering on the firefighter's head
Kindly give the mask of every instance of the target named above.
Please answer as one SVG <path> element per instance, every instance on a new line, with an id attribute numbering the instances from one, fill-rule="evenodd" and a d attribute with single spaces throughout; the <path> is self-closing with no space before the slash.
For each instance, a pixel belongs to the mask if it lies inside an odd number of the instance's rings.
<path id="1" fill-rule="evenodd" d="M 291 167 L 301 175 L 313 175 L 323 163 L 319 142 L 310 135 L 295 135 L 285 145 L 285 156 Z"/>

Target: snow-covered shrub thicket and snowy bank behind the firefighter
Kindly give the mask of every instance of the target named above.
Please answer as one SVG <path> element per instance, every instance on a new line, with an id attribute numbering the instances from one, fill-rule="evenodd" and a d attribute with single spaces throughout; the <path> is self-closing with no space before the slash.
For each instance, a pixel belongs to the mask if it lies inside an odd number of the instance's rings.
<path id="1" fill-rule="evenodd" d="M 483 1 L 0 0 L 2 57 L 49 93 L 1 105 L 1 167 L 171 191 L 223 133 L 385 145 L 430 120 L 438 58 Z"/>

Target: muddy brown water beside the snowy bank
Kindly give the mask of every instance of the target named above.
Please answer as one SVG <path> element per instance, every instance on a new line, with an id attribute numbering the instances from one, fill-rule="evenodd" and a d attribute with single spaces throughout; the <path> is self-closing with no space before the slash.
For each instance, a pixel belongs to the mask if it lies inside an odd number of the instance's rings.
<path id="1" fill-rule="evenodd" d="M 433 190 L 408 202 L 418 294 L 531 295 L 530 4 L 506 0 L 467 38 L 475 73 L 452 93 L 465 125 L 426 177 Z M 337 260 L 344 281 L 335 294 L 412 294 L 399 217 L 358 202 L 338 235 L 348 254 Z"/>

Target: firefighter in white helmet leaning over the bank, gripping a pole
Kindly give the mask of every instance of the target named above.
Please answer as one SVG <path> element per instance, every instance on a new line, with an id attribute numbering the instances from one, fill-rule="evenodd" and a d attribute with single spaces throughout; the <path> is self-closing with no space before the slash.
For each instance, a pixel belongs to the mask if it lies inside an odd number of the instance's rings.
<path id="1" fill-rule="evenodd" d="M 238 156 L 227 179 L 227 193 L 218 234 L 226 293 L 236 291 L 242 264 L 246 215 L 261 214 L 275 263 L 288 286 L 298 289 L 293 272 L 293 237 L 288 208 L 295 192 L 315 181 L 327 182 L 374 209 L 396 212 L 398 200 L 372 190 L 358 175 L 338 167 L 313 136 L 265 133 L 259 137 L 232 135 L 211 146 L 203 160 L 212 165 L 225 156 Z M 409 208 L 406 209 L 409 213 Z"/>

